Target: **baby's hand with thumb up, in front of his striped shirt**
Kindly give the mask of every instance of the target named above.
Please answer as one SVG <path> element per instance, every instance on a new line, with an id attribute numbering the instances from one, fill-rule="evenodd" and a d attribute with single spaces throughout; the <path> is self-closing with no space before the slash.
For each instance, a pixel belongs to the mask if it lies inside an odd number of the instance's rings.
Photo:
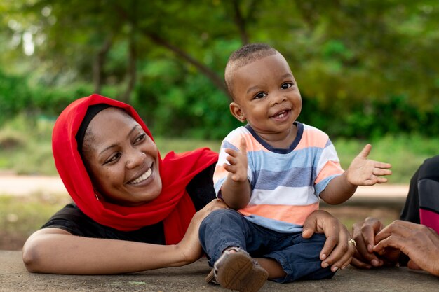
<path id="1" fill-rule="evenodd" d="M 230 163 L 224 163 L 224 169 L 227 170 L 231 175 L 233 181 L 247 181 L 247 145 L 245 144 L 245 139 L 241 138 L 239 151 L 233 149 L 225 150 L 229 156 L 227 156 L 227 161 Z"/>

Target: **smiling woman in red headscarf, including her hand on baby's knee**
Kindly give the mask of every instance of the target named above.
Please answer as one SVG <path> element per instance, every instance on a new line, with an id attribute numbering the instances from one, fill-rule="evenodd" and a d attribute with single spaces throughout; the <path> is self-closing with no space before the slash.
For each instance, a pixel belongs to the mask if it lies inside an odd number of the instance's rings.
<path id="1" fill-rule="evenodd" d="M 30 272 L 117 274 L 193 263 L 202 255 L 201 221 L 227 207 L 214 200 L 216 153 L 203 148 L 162 160 L 135 110 L 100 95 L 60 114 L 53 155 L 75 204 L 27 239 L 22 258 Z M 323 264 L 348 264 L 344 225 L 319 211 L 304 237 L 313 232 L 327 236 Z"/>

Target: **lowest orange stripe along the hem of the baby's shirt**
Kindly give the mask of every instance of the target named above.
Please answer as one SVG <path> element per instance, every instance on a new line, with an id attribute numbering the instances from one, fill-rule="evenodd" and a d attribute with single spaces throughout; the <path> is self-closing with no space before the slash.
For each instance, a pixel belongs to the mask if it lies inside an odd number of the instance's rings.
<path id="1" fill-rule="evenodd" d="M 288 222 L 297 225 L 304 225 L 306 217 L 318 209 L 318 202 L 306 206 L 288 206 L 259 204 L 240 209 L 244 216 L 257 215 L 264 218 Z"/>

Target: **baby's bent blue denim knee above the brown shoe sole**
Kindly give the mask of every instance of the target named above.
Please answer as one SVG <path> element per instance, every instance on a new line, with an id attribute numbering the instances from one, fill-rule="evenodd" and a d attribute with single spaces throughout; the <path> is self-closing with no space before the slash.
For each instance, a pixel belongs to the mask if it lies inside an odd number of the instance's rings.
<path id="1" fill-rule="evenodd" d="M 210 258 L 209 265 L 213 266 L 222 251 L 229 246 L 237 246 L 245 250 L 246 230 L 248 230 L 248 221 L 238 211 L 232 209 L 215 210 L 204 218 L 198 236 L 203 250 Z"/>

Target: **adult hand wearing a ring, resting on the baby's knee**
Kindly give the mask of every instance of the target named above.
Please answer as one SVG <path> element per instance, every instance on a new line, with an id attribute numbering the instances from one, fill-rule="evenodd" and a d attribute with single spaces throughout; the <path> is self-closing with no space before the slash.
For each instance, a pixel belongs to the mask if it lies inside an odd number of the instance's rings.
<path id="1" fill-rule="evenodd" d="M 326 236 L 326 242 L 320 251 L 320 260 L 322 267 L 332 266 L 332 272 L 339 268 L 344 269 L 351 263 L 355 246 L 348 244 L 351 235 L 346 226 L 327 211 L 313 211 L 305 220 L 302 237 L 310 238 L 314 232 L 323 233 Z"/>

